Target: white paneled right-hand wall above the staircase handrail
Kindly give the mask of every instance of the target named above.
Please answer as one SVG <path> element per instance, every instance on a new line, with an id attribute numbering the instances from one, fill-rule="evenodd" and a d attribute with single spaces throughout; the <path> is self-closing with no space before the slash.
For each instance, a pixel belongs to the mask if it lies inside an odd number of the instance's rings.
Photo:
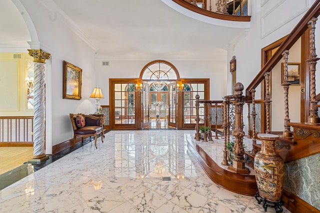
<path id="1" fill-rule="evenodd" d="M 230 44 L 227 53 L 228 60 L 236 56 L 236 81 L 244 85 L 244 90 L 261 69 L 261 49 L 290 33 L 314 0 L 249 2 L 250 30 L 243 39 Z M 231 75 L 227 75 L 227 84 L 227 93 L 231 94 Z M 256 95 L 258 99 L 258 90 Z M 243 112 L 243 117 L 246 117 L 246 109 Z M 247 133 L 247 119 L 244 119 L 244 124 L 244 132 Z"/>

